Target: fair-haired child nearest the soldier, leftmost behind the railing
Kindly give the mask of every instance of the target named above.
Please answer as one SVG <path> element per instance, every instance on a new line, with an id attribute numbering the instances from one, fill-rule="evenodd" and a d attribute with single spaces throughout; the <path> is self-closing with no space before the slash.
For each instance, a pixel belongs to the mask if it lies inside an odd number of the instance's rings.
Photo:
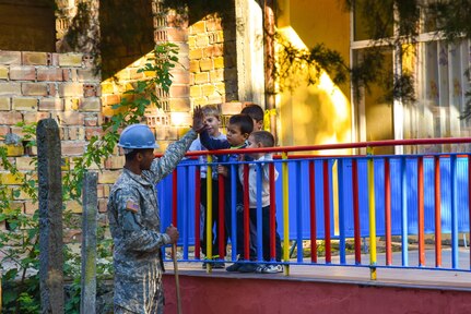
<path id="1" fill-rule="evenodd" d="M 211 138 L 215 140 L 226 140 L 226 136 L 220 132 L 220 123 L 221 123 L 221 114 L 217 106 L 214 105 L 208 105 L 201 108 L 204 114 L 204 124 L 205 130 L 208 132 L 208 135 L 211 136 Z M 191 143 L 191 146 L 189 150 L 208 150 L 203 145 L 201 145 L 200 138 L 197 138 Z M 217 161 L 217 156 L 213 156 L 213 160 Z M 207 157 L 205 156 L 199 156 L 199 161 L 202 165 L 207 164 Z M 201 200 L 201 218 L 202 218 L 202 237 L 201 237 L 201 251 L 204 255 L 207 255 L 207 204 L 208 204 L 208 185 L 207 181 L 208 179 L 212 180 L 212 222 L 211 222 L 211 230 L 215 229 L 215 233 L 213 232 L 212 237 L 212 257 L 213 259 L 219 258 L 219 238 L 217 238 L 217 230 L 220 226 L 219 220 L 219 190 L 217 190 L 217 171 L 214 169 L 212 176 L 208 176 L 208 167 L 201 166 L 200 168 L 200 176 L 201 176 L 201 190 L 200 190 L 200 200 Z M 224 268 L 224 263 L 212 263 L 213 268 Z M 207 268 L 207 262 L 203 263 L 203 268 Z"/>

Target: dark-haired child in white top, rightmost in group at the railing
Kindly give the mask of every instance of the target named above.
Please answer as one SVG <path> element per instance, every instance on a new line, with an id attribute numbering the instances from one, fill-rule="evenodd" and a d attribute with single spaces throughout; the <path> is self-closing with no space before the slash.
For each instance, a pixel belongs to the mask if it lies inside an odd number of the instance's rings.
<path id="1" fill-rule="evenodd" d="M 274 138 L 270 132 L 267 131 L 255 131 L 250 134 L 247 141 L 247 148 L 261 148 L 261 147 L 273 147 Z M 256 161 L 271 161 L 271 154 L 267 153 L 252 153 L 249 157 Z M 257 226 L 257 166 L 256 164 L 249 164 L 248 182 L 249 182 L 249 207 L 250 207 L 250 225 L 256 228 Z M 262 164 L 261 166 L 261 206 L 262 206 L 262 247 L 263 247 L 263 259 L 270 261 L 270 171 L 269 165 Z M 239 167 L 240 182 L 244 182 L 244 167 Z M 274 180 L 278 178 L 278 171 L 274 170 Z M 281 261 L 281 241 L 280 234 L 276 231 L 275 221 L 275 259 Z M 251 232 L 257 234 L 257 231 Z M 256 273 L 262 274 L 275 274 L 282 273 L 283 266 L 278 264 L 258 265 L 255 269 Z"/>

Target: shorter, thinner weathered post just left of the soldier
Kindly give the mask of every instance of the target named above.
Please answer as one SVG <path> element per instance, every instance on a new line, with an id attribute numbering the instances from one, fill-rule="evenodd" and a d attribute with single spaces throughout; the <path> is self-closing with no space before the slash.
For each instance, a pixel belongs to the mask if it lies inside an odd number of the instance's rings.
<path id="1" fill-rule="evenodd" d="M 96 218 L 98 215 L 96 183 L 96 172 L 86 172 L 82 190 L 82 291 L 80 300 L 80 313 L 84 314 L 96 312 Z"/>

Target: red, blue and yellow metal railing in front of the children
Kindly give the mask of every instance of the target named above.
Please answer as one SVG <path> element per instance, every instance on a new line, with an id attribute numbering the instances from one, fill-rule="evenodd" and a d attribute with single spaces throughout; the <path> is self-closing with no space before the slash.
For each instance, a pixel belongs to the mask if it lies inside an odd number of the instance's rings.
<path id="1" fill-rule="evenodd" d="M 260 149 L 240 149 L 240 154 L 250 152 L 281 153 L 279 158 L 269 161 L 270 167 L 270 256 L 274 263 L 274 226 L 279 222 L 283 240 L 282 264 L 286 274 L 292 264 L 364 266 L 372 269 L 376 278 L 377 267 L 413 267 L 426 269 L 469 270 L 471 254 L 464 267 L 459 262 L 459 233 L 470 231 L 471 213 L 471 155 L 466 153 L 417 154 L 417 155 L 356 155 L 356 156 L 320 156 L 291 155 L 290 153 L 321 152 L 329 149 L 369 148 L 398 145 L 437 145 L 464 144 L 471 138 L 427 138 L 407 141 L 364 142 L 352 144 L 315 145 L 297 147 L 273 147 Z M 233 154 L 232 149 L 211 152 L 212 155 Z M 326 152 L 323 152 L 326 153 Z M 195 156 L 208 152 L 192 152 L 187 160 L 180 162 L 174 174 L 157 185 L 161 202 L 163 226 L 173 222 L 180 230 L 179 245 L 182 261 L 202 262 L 200 254 L 200 165 Z M 191 159 L 192 158 L 192 159 Z M 236 200 L 235 180 L 238 167 L 243 167 L 248 178 L 248 162 L 225 162 L 232 172 L 232 234 L 228 234 L 232 246 L 231 256 L 221 254 L 219 258 L 236 261 Z M 252 162 L 254 164 L 254 162 Z M 261 169 L 260 162 L 257 164 Z M 212 162 L 208 155 L 208 173 L 219 164 Z M 281 174 L 274 180 L 275 169 Z M 258 171 L 257 191 L 261 191 L 261 171 Z M 220 191 L 219 216 L 224 219 L 223 180 L 217 180 Z M 212 193 L 212 182 L 207 180 L 208 196 Z M 244 180 L 244 186 L 248 181 Z M 169 195 L 173 197 L 168 197 Z M 244 225 L 248 226 L 248 193 L 244 193 Z M 211 220 L 211 197 L 207 197 L 207 221 Z M 261 200 L 261 193 L 258 193 Z M 260 203 L 260 202 L 258 202 Z M 172 210 L 169 210 L 172 208 Z M 257 258 L 262 261 L 261 252 L 261 205 L 257 208 Z M 221 224 L 223 226 L 223 224 Z M 207 226 L 207 238 L 211 243 L 211 225 Z M 217 232 L 224 239 L 224 228 Z M 433 250 L 426 250 L 425 238 L 431 234 Z M 384 253 L 377 251 L 377 239 L 384 239 Z M 393 237 L 400 240 L 400 262 L 395 259 L 399 253 L 393 252 Z M 417 247 L 411 250 L 410 239 L 416 238 Z M 429 235 L 428 235 L 429 237 Z M 443 261 L 443 237 L 450 238 L 450 263 Z M 363 245 L 362 240 L 367 244 Z M 289 240 L 289 241 L 286 241 Z M 303 247 L 304 240 L 310 246 Z M 249 262 L 249 234 L 245 232 L 244 257 Z M 348 242 L 353 241 L 353 252 L 348 250 Z M 323 244 L 321 252 L 320 244 Z M 333 245 L 334 244 L 334 245 Z M 294 246 L 297 254 L 292 257 Z M 464 243 L 466 245 L 466 243 Z M 365 250 L 365 246 L 367 250 Z M 193 250 L 193 251 L 192 251 Z M 448 249 L 447 249 L 448 250 Z M 192 252 L 191 252 L 192 251 Z M 363 252 L 362 252 L 363 251 Z M 365 263 L 365 251 L 369 262 Z M 417 254 L 416 264 L 410 262 L 410 254 Z M 431 265 L 426 252 L 434 255 Z M 462 250 L 461 250 L 462 251 Z M 219 252 L 224 252 L 220 241 Z M 305 258 L 304 254 L 310 258 Z M 363 254 L 362 254 L 363 253 Z M 381 262 L 378 263 L 378 256 Z M 207 256 L 212 257 L 211 245 L 207 246 Z M 334 258 L 333 258 L 334 257 Z M 427 263 L 428 262 L 428 263 Z M 257 262 L 255 262 L 257 263 Z M 209 266 L 209 271 L 211 267 Z"/>

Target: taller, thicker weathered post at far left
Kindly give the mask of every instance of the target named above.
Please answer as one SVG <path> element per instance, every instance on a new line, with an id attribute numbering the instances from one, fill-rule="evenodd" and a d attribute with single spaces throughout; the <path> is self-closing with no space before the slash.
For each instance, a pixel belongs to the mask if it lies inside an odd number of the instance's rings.
<path id="1" fill-rule="evenodd" d="M 63 313 L 62 178 L 59 128 L 40 120 L 36 129 L 39 180 L 40 312 Z"/>

